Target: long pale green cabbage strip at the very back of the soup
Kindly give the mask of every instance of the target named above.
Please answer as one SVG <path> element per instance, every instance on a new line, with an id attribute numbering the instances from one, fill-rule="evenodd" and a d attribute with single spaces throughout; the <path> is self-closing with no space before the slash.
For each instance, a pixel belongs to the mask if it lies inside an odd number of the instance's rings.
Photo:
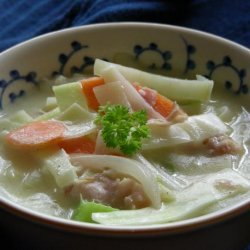
<path id="1" fill-rule="evenodd" d="M 177 102 L 208 101 L 214 82 L 205 77 L 197 76 L 197 80 L 184 80 L 150 74 L 141 70 L 109 63 L 100 59 L 95 60 L 94 74 L 102 75 L 104 69 L 113 66 L 130 82 L 138 82 L 157 90 L 160 94 Z"/>

